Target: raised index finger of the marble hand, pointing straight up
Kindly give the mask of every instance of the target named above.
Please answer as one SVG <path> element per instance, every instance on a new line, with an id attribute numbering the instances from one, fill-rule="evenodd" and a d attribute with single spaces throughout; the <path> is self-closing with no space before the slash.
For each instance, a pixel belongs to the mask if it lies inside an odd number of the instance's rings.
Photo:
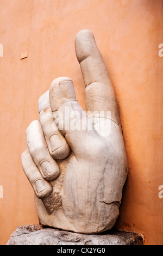
<path id="1" fill-rule="evenodd" d="M 86 86 L 86 111 L 111 111 L 111 119 L 119 125 L 114 88 L 93 33 L 87 29 L 78 32 L 75 47 Z"/>

